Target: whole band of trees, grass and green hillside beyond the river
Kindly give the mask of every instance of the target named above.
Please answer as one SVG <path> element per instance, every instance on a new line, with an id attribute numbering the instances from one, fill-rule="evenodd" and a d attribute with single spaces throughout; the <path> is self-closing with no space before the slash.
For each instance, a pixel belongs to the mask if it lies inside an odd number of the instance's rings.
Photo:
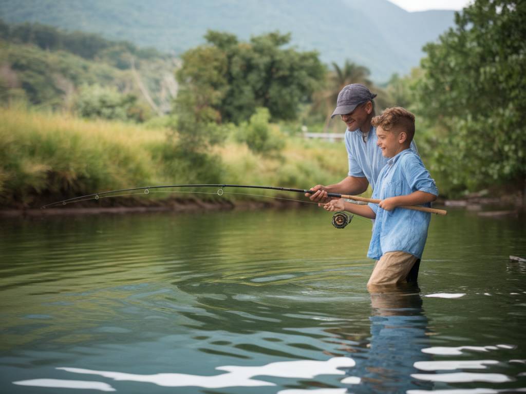
<path id="1" fill-rule="evenodd" d="M 328 115 L 350 83 L 378 93 L 377 113 L 399 105 L 416 114 L 419 152 L 442 196 L 526 195 L 525 21 L 524 2 L 476 0 L 424 47 L 420 67 L 381 88 L 366 67 L 323 65 L 279 32 L 242 42 L 210 31 L 178 64 L 96 35 L 0 23 L 0 199 L 29 206 L 154 183 L 336 182 L 345 149 L 301 130 L 341 133 Z"/>

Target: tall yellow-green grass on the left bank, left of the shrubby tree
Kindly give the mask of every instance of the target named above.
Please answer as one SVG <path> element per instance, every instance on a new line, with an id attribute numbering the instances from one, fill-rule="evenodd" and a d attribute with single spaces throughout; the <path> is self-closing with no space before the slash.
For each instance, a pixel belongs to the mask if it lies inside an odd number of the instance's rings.
<path id="1" fill-rule="evenodd" d="M 148 147 L 164 133 L 25 108 L 0 109 L 0 192 L 4 201 L 70 197 L 156 180 Z"/>

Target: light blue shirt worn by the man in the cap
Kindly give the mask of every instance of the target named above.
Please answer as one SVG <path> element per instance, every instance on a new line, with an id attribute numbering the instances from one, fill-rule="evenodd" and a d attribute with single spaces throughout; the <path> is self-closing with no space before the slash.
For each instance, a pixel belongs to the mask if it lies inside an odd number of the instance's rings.
<path id="1" fill-rule="evenodd" d="M 349 177 L 367 178 L 372 190 L 375 190 L 376 180 L 380 170 L 386 165 L 388 158 L 383 157 L 382 150 L 377 146 L 376 128 L 371 126 L 365 142 L 362 132 L 347 130 L 345 133 L 345 147 L 349 160 Z M 417 146 L 411 141 L 411 149 L 417 152 Z"/>

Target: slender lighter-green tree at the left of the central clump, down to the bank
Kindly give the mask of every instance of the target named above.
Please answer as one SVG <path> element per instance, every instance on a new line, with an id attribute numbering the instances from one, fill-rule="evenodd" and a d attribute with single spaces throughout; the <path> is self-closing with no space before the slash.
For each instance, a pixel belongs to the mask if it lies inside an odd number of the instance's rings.
<path id="1" fill-rule="evenodd" d="M 226 89 L 226 58 L 217 47 L 190 49 L 183 62 L 192 67 L 180 68 L 175 100 L 175 122 L 163 153 L 167 174 L 178 183 L 218 183 L 222 163 L 211 147 L 222 142 L 217 107 Z"/>

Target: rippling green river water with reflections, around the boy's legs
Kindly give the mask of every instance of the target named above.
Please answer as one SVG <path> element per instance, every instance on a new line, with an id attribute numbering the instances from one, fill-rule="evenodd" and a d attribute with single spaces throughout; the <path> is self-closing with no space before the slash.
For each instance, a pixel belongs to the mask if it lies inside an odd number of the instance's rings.
<path id="1" fill-rule="evenodd" d="M 526 388 L 524 217 L 433 216 L 419 287 L 317 209 L 0 221 L 0 391 Z"/>

